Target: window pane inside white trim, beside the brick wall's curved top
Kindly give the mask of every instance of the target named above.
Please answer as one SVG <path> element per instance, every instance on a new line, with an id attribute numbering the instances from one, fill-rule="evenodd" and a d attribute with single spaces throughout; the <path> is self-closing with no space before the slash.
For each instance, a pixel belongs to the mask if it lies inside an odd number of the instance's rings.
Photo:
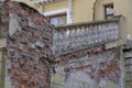
<path id="1" fill-rule="evenodd" d="M 50 23 L 53 25 L 66 24 L 66 14 L 50 16 Z"/>

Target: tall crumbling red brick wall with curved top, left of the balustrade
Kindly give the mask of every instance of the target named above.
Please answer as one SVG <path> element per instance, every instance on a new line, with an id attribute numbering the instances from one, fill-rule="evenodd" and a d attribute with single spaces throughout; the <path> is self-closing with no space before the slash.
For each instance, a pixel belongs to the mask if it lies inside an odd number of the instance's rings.
<path id="1" fill-rule="evenodd" d="M 7 1 L 2 4 L 1 20 L 7 23 L 0 33 L 8 36 L 6 57 L 12 86 L 50 88 L 53 28 L 45 16 L 24 3 Z"/>

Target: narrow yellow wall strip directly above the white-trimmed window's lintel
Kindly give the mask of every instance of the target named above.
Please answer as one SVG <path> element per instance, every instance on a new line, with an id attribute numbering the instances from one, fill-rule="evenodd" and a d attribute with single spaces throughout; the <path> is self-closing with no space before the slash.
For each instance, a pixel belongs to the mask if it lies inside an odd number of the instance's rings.
<path id="1" fill-rule="evenodd" d="M 59 1 L 59 2 L 51 2 L 44 4 L 44 11 L 54 11 L 58 9 L 68 8 L 68 0 Z"/>

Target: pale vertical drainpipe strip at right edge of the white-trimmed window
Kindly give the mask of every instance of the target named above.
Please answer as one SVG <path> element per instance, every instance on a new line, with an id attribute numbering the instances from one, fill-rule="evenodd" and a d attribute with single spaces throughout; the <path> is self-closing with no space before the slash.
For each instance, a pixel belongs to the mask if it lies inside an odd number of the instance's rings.
<path id="1" fill-rule="evenodd" d="M 67 22 L 73 23 L 73 0 L 68 0 Z"/>

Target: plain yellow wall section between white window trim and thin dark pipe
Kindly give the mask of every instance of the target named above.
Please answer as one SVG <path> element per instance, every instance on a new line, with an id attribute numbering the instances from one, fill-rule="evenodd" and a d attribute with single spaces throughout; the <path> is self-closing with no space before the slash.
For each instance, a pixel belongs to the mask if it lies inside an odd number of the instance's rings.
<path id="1" fill-rule="evenodd" d="M 88 22 L 92 20 L 94 0 L 74 0 L 73 22 Z"/>

